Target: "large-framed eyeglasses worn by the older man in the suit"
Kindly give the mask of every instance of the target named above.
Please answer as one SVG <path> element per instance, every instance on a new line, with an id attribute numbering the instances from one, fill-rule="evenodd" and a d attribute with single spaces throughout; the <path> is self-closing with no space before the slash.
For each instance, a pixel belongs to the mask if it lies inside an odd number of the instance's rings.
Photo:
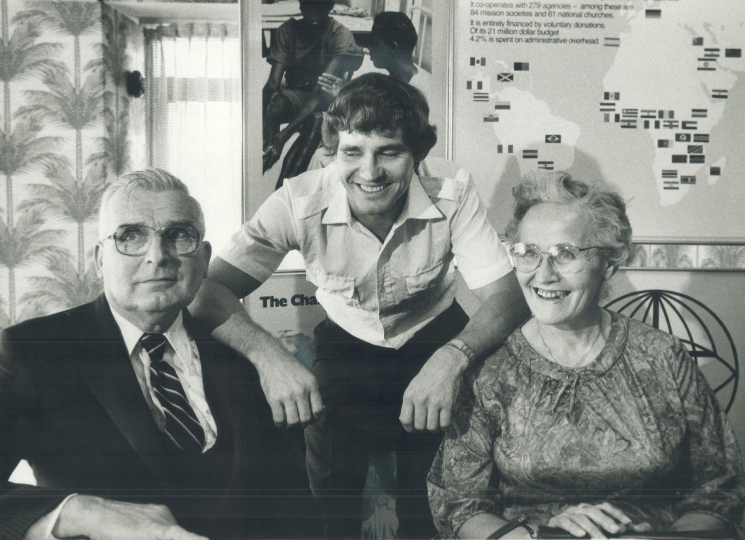
<path id="1" fill-rule="evenodd" d="M 199 247 L 199 231 L 191 225 L 168 225 L 162 229 L 139 224 L 122 225 L 104 240 L 113 238 L 118 252 L 122 255 L 136 256 L 148 252 L 155 235 L 160 236 L 163 247 L 171 255 L 189 255 Z"/>

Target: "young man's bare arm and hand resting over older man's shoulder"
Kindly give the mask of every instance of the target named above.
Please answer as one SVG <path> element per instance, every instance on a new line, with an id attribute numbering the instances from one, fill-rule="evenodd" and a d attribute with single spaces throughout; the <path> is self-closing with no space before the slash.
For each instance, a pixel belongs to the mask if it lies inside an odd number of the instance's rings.
<path id="1" fill-rule="evenodd" d="M 258 279 L 216 257 L 189 311 L 208 328 L 214 328 L 213 336 L 256 366 L 276 425 L 308 425 L 323 410 L 316 378 L 282 343 L 250 319 L 239 300 L 259 285 Z"/>

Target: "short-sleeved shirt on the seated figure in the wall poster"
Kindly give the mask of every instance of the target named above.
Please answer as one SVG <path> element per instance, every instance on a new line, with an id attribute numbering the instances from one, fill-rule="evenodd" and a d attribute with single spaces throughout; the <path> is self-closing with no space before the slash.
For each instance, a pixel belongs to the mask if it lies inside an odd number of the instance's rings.
<path id="1" fill-rule="evenodd" d="M 318 76 L 335 57 L 357 57 L 362 63 L 364 51 L 355 42 L 349 28 L 335 19 L 329 19 L 326 31 L 308 31 L 312 28 L 298 19 L 290 19 L 277 29 L 267 62 L 285 66 L 285 83 L 288 88 L 310 92 Z M 355 69 L 359 64 L 355 66 Z"/>

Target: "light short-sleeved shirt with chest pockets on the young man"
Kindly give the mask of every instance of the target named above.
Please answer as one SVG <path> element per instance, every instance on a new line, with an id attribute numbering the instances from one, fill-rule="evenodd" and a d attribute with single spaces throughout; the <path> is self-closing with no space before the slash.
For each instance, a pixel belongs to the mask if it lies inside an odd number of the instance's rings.
<path id="1" fill-rule="evenodd" d="M 414 175 L 406 197 L 381 243 L 352 216 L 332 163 L 285 180 L 220 257 L 264 282 L 299 250 L 331 320 L 367 343 L 399 349 L 453 302 L 453 258 L 472 289 L 512 270 L 467 171 Z"/>

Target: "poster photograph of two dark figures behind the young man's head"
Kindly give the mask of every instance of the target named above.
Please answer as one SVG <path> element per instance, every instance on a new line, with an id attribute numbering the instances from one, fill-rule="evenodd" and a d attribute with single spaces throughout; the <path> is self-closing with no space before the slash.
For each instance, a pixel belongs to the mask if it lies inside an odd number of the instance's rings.
<path id="1" fill-rule="evenodd" d="M 250 83 L 261 95 L 264 186 L 279 188 L 335 159 L 320 147 L 323 111 L 346 80 L 361 74 L 390 74 L 416 86 L 434 121 L 444 123 L 447 77 L 434 61 L 448 47 L 447 17 L 435 20 L 439 1 L 261 3 L 261 59 L 250 66 Z"/>

